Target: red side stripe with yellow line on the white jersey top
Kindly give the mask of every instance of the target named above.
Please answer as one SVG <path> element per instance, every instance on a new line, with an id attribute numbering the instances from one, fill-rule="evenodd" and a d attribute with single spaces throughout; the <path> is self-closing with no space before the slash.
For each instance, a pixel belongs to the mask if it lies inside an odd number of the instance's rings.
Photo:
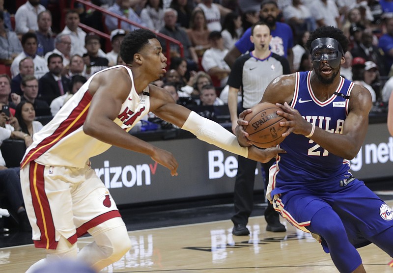
<path id="1" fill-rule="evenodd" d="M 86 91 L 86 94 L 78 106 L 72 110 L 69 117 L 67 117 L 55 130 L 52 136 L 45 138 L 41 143 L 39 143 L 39 147 L 33 148 L 29 151 L 21 164 L 21 168 L 23 168 L 28 162 L 37 159 L 40 155 L 48 151 L 62 137 L 71 134 L 83 125 L 92 98 L 88 91 Z"/>

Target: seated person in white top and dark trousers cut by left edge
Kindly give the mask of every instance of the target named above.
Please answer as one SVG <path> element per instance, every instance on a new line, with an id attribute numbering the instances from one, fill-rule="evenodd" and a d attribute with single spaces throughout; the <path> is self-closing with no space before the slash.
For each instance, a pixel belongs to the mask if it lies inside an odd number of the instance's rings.
<path id="1" fill-rule="evenodd" d="M 0 107 L 2 104 L 0 103 Z M 27 134 L 19 131 L 19 124 L 16 120 L 15 127 L 7 124 L 9 117 L 4 113 L 0 113 L 0 145 L 8 138 L 25 140 L 26 147 L 28 147 L 32 139 Z M 16 129 L 16 130 L 15 130 Z M 19 178 L 19 167 L 8 168 L 0 151 L 0 188 L 5 193 L 5 198 L 9 202 L 9 209 L 11 213 L 16 213 L 19 229 L 26 232 L 31 232 L 31 226 L 28 223 L 28 217 L 24 207 L 24 201 L 21 190 L 21 181 Z"/>

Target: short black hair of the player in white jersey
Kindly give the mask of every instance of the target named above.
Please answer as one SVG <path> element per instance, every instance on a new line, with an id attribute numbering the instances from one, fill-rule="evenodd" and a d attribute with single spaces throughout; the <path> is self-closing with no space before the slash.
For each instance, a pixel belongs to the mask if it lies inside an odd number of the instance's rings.
<path id="1" fill-rule="evenodd" d="M 150 39 L 157 38 L 156 34 L 148 29 L 139 28 L 127 33 L 120 46 L 120 57 L 126 64 L 134 60 L 134 55 L 148 44 Z"/>

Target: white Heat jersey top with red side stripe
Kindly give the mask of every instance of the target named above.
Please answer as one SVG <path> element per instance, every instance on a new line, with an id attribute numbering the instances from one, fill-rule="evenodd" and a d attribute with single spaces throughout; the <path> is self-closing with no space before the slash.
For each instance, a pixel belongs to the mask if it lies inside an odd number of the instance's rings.
<path id="1" fill-rule="evenodd" d="M 113 66 L 105 70 L 116 67 L 120 66 Z M 131 81 L 134 82 L 132 71 L 125 68 Z M 112 146 L 83 132 L 84 121 L 92 99 L 88 87 L 95 75 L 84 83 L 78 92 L 58 111 L 52 121 L 34 134 L 33 143 L 28 147 L 21 167 L 24 167 L 28 162 L 36 161 L 43 165 L 83 168 L 89 158 L 105 152 Z M 142 93 L 138 94 L 133 84 L 128 98 L 121 105 L 120 112 L 113 121 L 124 131 L 131 130 L 149 112 L 148 88 L 146 87 Z"/>

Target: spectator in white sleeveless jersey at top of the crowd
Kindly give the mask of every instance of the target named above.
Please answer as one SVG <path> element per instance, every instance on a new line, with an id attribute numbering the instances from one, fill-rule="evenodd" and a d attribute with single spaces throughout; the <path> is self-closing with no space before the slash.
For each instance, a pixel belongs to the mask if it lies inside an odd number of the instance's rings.
<path id="1" fill-rule="evenodd" d="M 213 0 L 201 0 L 197 7 L 203 10 L 209 31 L 221 31 L 223 28 L 221 17 L 224 18 L 226 14 L 232 11 L 221 4 L 213 3 Z"/>

